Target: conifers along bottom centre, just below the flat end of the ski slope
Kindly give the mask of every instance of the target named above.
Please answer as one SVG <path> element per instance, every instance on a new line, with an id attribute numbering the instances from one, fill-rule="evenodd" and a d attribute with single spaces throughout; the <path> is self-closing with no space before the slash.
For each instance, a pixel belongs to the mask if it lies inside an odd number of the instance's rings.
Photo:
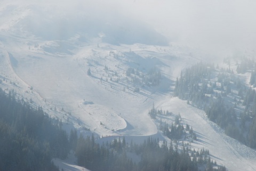
<path id="1" fill-rule="evenodd" d="M 138 156 L 139 161 L 127 153 Z M 86 138 L 80 135 L 75 154 L 78 165 L 91 170 L 198 170 L 199 167 L 226 170 L 225 166 L 213 162 L 207 150 L 191 150 L 185 146 L 179 150 L 177 144 L 163 141 L 160 145 L 158 139 L 151 137 L 141 144 L 126 143 L 123 137 L 100 145 L 93 135 Z"/>

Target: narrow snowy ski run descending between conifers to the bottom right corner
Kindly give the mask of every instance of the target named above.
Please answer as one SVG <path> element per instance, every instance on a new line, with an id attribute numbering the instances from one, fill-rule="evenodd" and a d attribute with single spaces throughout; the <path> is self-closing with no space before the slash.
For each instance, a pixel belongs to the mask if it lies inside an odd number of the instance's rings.
<path id="1" fill-rule="evenodd" d="M 191 125 L 197 134 L 197 141 L 191 148 L 209 149 L 211 157 L 229 170 L 255 170 L 256 151 L 224 134 L 218 125 L 209 121 L 203 110 L 187 105 L 177 97 L 158 102 L 158 108 L 180 114 L 184 123 Z M 170 120 L 162 119 L 169 123 Z M 170 124 L 170 123 L 169 123 Z"/>

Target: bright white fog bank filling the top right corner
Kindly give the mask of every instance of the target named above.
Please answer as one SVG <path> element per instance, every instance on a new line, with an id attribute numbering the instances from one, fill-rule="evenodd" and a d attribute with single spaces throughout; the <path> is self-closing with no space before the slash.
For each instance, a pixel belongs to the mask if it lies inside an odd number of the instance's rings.
<path id="1" fill-rule="evenodd" d="M 256 48 L 256 1 L 137 0 L 134 6 L 171 41 L 211 51 Z"/>

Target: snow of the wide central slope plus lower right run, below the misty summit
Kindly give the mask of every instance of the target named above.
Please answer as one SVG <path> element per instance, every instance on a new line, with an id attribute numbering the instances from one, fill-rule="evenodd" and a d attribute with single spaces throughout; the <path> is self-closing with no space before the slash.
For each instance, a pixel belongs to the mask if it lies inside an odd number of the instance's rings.
<path id="1" fill-rule="evenodd" d="M 139 46 L 142 45 L 131 47 Z M 85 126 L 99 137 L 125 135 L 143 139 L 147 135 L 161 136 L 148 116 L 154 102 L 157 108 L 174 114 L 180 113 L 182 120 L 193 126 L 198 138 L 198 141 L 191 143 L 194 148 L 209 149 L 213 160 L 229 170 L 255 170 L 256 152 L 253 149 L 223 134 L 217 125 L 207 119 L 202 110 L 171 97 L 171 86 L 176 76 L 181 69 L 191 65 L 189 62 L 194 59 L 186 55 L 173 56 L 171 53 L 162 55 L 154 47 L 143 48 L 151 49 L 137 51 L 140 59 L 148 60 L 150 64 L 152 58 L 145 57 L 145 54 L 154 53 L 155 58 L 165 64 L 159 67 L 165 75 L 162 81 L 169 83 L 168 85 L 160 85 L 154 89 L 145 88 L 136 93 L 131 88 L 123 91 L 123 87 L 127 85 L 122 79 L 119 83 L 100 81 L 100 75 L 106 75 L 105 65 L 109 70 L 117 71 L 122 78 L 125 68 L 131 63 L 127 64 L 123 58 L 121 60 L 110 56 L 109 52 L 113 49 L 83 47 L 82 50 L 77 50 L 76 55 L 70 56 L 17 53 L 2 49 L 1 76 L 8 81 L 3 81 L 1 87 L 14 89 L 28 100 L 31 98 L 34 105 L 43 106 L 52 117 L 62 119 L 69 129 L 76 127 L 83 130 Z M 97 49 L 97 53 L 93 52 L 97 54 L 94 57 L 90 54 L 92 49 Z M 118 49 L 119 54 L 126 51 L 127 47 Z M 92 76 L 86 73 L 89 67 Z M 61 167 L 74 165 L 59 159 L 54 162 L 59 165 L 62 163 Z"/>

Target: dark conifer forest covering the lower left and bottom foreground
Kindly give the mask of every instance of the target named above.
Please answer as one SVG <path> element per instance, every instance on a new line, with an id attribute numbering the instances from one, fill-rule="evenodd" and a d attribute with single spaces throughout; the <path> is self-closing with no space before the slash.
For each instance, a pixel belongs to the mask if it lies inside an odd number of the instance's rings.
<path id="1" fill-rule="evenodd" d="M 213 163 L 202 152 L 164 141 L 148 138 L 141 144 L 125 138 L 99 144 L 94 135 L 78 136 L 76 130 L 69 135 L 62 122 L 33 108 L 14 91 L 0 89 L 0 170 L 59 170 L 52 158 L 65 159 L 74 150 L 78 165 L 91 170 L 198 170 L 205 165 L 209 170 L 226 170 Z M 135 161 L 127 155 L 139 157 Z"/>

